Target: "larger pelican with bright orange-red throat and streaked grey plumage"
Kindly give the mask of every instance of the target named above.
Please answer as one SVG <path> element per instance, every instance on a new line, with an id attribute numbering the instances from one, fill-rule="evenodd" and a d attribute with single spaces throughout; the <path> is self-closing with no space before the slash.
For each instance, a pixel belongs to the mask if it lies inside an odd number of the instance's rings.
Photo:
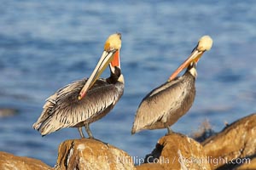
<path id="1" fill-rule="evenodd" d="M 81 138 L 84 138 L 84 126 L 89 138 L 93 138 L 90 123 L 108 114 L 124 92 L 120 48 L 121 34 L 108 37 L 102 57 L 90 78 L 72 82 L 46 99 L 44 110 L 33 128 L 44 136 L 64 127 L 78 127 Z M 108 65 L 110 77 L 98 79 Z"/>

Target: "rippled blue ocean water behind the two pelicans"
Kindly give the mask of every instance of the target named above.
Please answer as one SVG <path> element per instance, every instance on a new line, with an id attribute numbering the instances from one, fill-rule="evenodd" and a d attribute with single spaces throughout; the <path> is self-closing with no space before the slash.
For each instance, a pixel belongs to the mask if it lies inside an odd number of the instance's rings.
<path id="1" fill-rule="evenodd" d="M 165 82 L 210 35 L 212 50 L 197 65 L 195 103 L 172 130 L 191 134 L 209 120 L 215 131 L 256 111 L 254 1 L 2 1 L 0 5 L 0 150 L 54 166 L 58 145 L 79 139 L 76 128 L 42 138 L 32 129 L 44 100 L 58 88 L 89 77 L 104 42 L 122 33 L 125 94 L 108 116 L 90 125 L 97 139 L 131 156 L 151 152 L 166 129 L 131 136 L 137 106 Z M 108 77 L 106 70 L 102 77 Z"/>

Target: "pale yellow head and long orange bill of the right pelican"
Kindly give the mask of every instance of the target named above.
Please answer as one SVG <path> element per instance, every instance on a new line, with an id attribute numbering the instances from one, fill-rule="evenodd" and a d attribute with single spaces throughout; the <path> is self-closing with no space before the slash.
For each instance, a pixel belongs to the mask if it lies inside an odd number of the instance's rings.
<path id="1" fill-rule="evenodd" d="M 186 59 L 182 65 L 180 65 L 176 71 L 172 73 L 172 76 L 169 77 L 169 82 L 172 81 L 175 77 L 177 77 L 178 73 L 183 71 L 183 69 L 187 68 L 189 64 L 192 61 L 195 61 L 195 63 L 198 62 L 198 60 L 201 58 L 202 54 L 204 54 L 205 51 L 208 51 L 212 48 L 212 38 L 209 36 L 201 37 L 199 40 L 197 46 L 192 51 L 192 53 L 189 55 L 188 59 Z"/>

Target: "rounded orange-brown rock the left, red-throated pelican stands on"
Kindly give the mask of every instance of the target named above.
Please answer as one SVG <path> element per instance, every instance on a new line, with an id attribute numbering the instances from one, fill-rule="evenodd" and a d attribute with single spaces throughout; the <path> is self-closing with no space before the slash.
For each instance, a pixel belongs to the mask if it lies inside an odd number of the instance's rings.
<path id="1" fill-rule="evenodd" d="M 59 146 L 55 169 L 135 169 L 125 151 L 96 139 L 71 139 Z"/>

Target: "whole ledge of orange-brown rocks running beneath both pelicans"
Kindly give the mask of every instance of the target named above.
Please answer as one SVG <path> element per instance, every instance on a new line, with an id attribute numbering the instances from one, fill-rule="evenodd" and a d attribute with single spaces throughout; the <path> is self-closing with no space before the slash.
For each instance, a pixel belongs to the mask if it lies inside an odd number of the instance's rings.
<path id="1" fill-rule="evenodd" d="M 60 144 L 55 167 L 0 152 L 0 169 L 256 169 L 256 114 L 227 125 L 201 143 L 180 133 L 164 136 L 144 160 L 134 167 L 131 156 L 111 144 L 72 139 Z"/>

